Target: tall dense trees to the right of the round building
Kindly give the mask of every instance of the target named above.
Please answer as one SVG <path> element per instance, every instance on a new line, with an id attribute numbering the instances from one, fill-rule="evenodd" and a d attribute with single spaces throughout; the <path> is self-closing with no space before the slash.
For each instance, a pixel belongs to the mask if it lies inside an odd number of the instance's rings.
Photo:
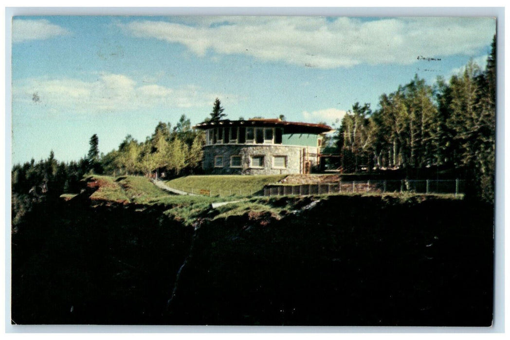
<path id="1" fill-rule="evenodd" d="M 433 86 L 417 75 L 382 94 L 379 108 L 355 103 L 343 118 L 337 147 L 344 172 L 449 169 L 472 194 L 494 200 L 496 37 L 484 71 L 473 62 Z"/>

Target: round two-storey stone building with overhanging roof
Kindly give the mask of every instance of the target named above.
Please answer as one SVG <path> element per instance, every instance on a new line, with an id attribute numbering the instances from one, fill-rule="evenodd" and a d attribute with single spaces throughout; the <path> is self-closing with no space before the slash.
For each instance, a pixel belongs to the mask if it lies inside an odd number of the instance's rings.
<path id="1" fill-rule="evenodd" d="M 206 131 L 203 169 L 210 174 L 308 174 L 318 165 L 323 124 L 280 119 L 221 120 L 195 126 Z"/>

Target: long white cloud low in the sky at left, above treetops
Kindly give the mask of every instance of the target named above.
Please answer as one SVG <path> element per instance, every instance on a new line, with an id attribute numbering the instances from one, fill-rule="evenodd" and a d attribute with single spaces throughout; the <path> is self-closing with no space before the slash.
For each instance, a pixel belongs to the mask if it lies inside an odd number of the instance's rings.
<path id="1" fill-rule="evenodd" d="M 224 96 L 197 86 L 139 85 L 126 75 L 111 73 L 99 74 L 94 81 L 37 78 L 13 82 L 13 103 L 44 105 L 51 112 L 76 114 L 155 107 L 207 107 L 216 97 Z M 235 96 L 228 97 L 235 101 Z"/>

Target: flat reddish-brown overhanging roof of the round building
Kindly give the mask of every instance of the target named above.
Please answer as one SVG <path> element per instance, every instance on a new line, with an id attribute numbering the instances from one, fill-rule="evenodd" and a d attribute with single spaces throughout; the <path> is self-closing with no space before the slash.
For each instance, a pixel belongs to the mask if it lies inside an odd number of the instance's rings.
<path id="1" fill-rule="evenodd" d="M 231 121 L 228 119 L 216 122 L 203 122 L 194 126 L 196 129 L 206 130 L 215 127 L 253 126 L 253 127 L 283 127 L 285 133 L 324 133 L 332 128 L 325 124 L 287 122 L 281 119 L 254 118 L 248 120 Z"/>

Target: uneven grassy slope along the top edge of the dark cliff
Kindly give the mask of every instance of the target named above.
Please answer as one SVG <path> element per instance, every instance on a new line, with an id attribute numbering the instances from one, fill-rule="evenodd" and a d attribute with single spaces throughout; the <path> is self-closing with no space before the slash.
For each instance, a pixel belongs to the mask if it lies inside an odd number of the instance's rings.
<path id="1" fill-rule="evenodd" d="M 179 188 L 179 184 L 195 185 L 204 187 L 209 185 L 212 190 L 232 191 L 244 190 L 245 192 L 257 192 L 266 183 L 274 183 L 282 176 L 188 176 L 168 181 L 172 187 Z M 113 178 L 109 176 L 94 175 L 93 179 L 98 181 L 100 188 L 91 195 L 92 200 L 104 200 L 120 203 L 136 203 L 150 205 L 163 205 L 166 207 L 165 214 L 186 225 L 192 225 L 201 218 L 218 219 L 231 216 L 242 216 L 248 213 L 269 213 L 276 219 L 285 216 L 289 211 L 299 209 L 303 204 L 315 200 L 327 200 L 327 195 L 311 196 L 271 196 L 271 197 L 240 197 L 239 195 L 220 197 L 213 191 L 213 196 L 185 196 L 169 194 L 150 182 L 145 177 L 127 176 Z M 181 187 L 182 188 L 182 187 Z M 190 190 L 191 191 L 191 190 Z M 225 194 L 224 194 L 225 195 Z M 249 194 L 248 194 L 249 195 Z M 383 196 L 401 203 L 416 199 L 455 199 L 453 195 L 423 195 L 413 193 L 342 193 L 343 196 Z M 336 195 L 333 195 L 336 196 Z M 457 199 L 461 199 L 459 196 Z M 227 204 L 216 209 L 211 208 L 211 203 L 239 200 L 240 202 Z"/>

